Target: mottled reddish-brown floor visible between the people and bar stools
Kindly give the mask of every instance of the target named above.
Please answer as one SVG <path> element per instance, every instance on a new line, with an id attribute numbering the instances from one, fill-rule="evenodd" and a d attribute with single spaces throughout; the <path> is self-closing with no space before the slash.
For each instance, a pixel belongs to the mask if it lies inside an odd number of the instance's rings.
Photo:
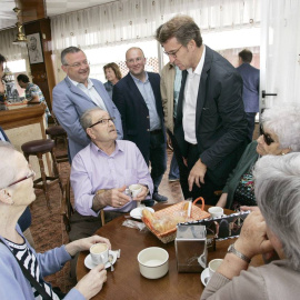
<path id="1" fill-rule="evenodd" d="M 59 148 L 62 146 L 59 144 Z M 183 200 L 179 182 L 169 182 L 168 172 L 170 166 L 171 152 L 168 150 L 168 169 L 163 176 L 159 192 L 169 198 L 169 203 L 177 203 Z M 63 183 L 70 172 L 70 166 L 67 162 L 60 163 L 60 174 Z M 36 242 L 37 252 L 59 247 L 68 243 L 68 234 L 60 214 L 61 192 L 59 186 L 53 186 L 50 191 L 51 211 L 48 210 L 44 196 L 41 191 L 37 191 L 37 199 L 32 204 L 32 226 L 31 233 Z M 69 263 L 64 268 L 47 278 L 54 287 L 60 287 L 62 291 L 69 291 L 76 282 L 69 278 Z"/>

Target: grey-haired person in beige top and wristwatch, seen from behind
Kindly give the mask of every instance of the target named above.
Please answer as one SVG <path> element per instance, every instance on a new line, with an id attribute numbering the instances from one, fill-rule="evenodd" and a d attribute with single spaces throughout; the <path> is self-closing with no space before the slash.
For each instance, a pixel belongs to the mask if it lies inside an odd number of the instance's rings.
<path id="1" fill-rule="evenodd" d="M 300 153 L 266 156 L 253 171 L 259 209 L 244 220 L 201 300 L 299 299 Z M 257 254 L 277 259 L 249 267 Z"/>

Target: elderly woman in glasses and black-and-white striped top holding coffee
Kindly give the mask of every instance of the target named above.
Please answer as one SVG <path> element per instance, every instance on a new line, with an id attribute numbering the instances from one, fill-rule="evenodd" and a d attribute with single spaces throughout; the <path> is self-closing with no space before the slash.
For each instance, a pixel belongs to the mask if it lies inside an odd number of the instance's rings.
<path id="1" fill-rule="evenodd" d="M 109 240 L 99 236 L 70 242 L 44 253 L 36 253 L 17 221 L 36 199 L 34 172 L 24 157 L 0 141 L 0 299 L 90 299 L 107 280 L 103 264 L 93 268 L 66 296 L 52 289 L 43 277 L 56 273 L 79 251 Z"/>

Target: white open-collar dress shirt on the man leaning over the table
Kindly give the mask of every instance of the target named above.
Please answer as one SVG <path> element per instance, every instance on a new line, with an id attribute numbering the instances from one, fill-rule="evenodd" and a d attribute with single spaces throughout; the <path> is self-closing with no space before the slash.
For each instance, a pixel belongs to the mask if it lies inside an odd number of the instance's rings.
<path id="1" fill-rule="evenodd" d="M 182 124 L 183 124 L 183 131 L 184 131 L 184 140 L 192 144 L 197 144 L 196 109 L 197 109 L 197 98 L 198 98 L 200 78 L 201 78 L 203 66 L 204 66 L 206 46 L 203 47 L 204 47 L 203 53 L 194 71 L 192 71 L 192 68 L 187 70 L 188 77 L 187 77 L 187 82 L 186 82 L 186 88 L 184 88 Z"/>

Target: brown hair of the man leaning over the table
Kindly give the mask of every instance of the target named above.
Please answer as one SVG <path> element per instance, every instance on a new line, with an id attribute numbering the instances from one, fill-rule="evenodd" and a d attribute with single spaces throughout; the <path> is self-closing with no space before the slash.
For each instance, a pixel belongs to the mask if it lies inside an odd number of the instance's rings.
<path id="1" fill-rule="evenodd" d="M 200 28 L 189 16 L 176 16 L 157 29 L 156 39 L 159 43 L 164 43 L 171 38 L 176 38 L 184 47 L 190 40 L 194 40 L 199 48 L 202 46 Z"/>

